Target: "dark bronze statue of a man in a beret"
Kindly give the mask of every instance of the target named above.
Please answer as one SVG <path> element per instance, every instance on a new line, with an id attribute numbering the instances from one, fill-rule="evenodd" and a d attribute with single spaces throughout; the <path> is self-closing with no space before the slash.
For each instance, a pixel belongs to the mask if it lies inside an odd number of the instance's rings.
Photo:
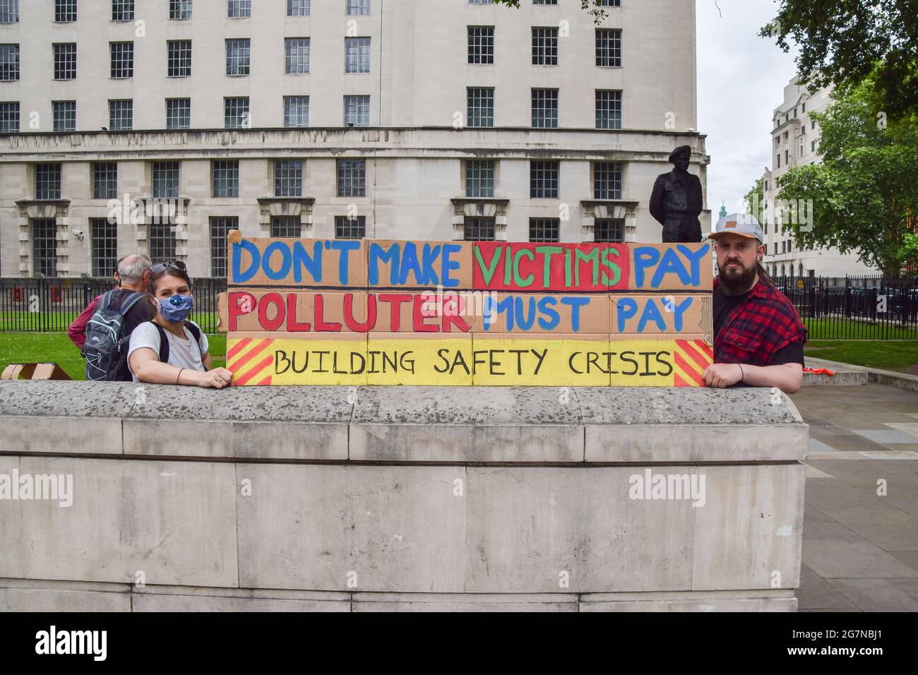
<path id="1" fill-rule="evenodd" d="M 663 225 L 663 242 L 700 242 L 701 181 L 689 174 L 691 148 L 680 145 L 669 155 L 673 170 L 656 177 L 650 215 Z"/>

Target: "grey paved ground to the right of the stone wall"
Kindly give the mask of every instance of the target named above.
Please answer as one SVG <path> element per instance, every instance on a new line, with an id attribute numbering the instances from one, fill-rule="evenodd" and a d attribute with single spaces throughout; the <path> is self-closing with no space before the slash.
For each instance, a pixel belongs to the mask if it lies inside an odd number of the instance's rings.
<path id="1" fill-rule="evenodd" d="M 918 392 L 802 388 L 800 612 L 918 611 Z"/>

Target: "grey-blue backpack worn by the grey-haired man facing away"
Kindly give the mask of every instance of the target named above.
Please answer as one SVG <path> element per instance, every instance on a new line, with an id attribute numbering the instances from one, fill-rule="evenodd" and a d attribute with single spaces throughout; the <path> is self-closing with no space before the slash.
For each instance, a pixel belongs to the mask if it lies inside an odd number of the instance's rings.
<path id="1" fill-rule="evenodd" d="M 129 334 L 124 334 L 124 317 L 134 305 L 145 298 L 145 295 L 134 291 L 118 307 L 112 307 L 114 296 L 115 291 L 110 290 L 99 298 L 92 319 L 86 323 L 86 343 L 83 346 L 83 355 L 86 359 L 86 379 L 96 381 L 130 381 L 131 379 L 130 372 L 128 372 L 128 377 L 123 377 L 124 374 L 118 369 L 122 351 L 121 343 L 130 339 Z M 124 351 L 127 352 L 127 348 Z"/>

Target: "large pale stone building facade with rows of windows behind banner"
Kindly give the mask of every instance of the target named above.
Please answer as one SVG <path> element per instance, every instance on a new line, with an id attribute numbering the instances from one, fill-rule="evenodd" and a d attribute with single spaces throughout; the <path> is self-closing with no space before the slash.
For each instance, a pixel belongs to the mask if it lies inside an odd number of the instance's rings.
<path id="1" fill-rule="evenodd" d="M 0 276 L 223 276 L 230 229 L 658 242 L 674 147 L 706 186 L 695 6 L 608 5 L 0 0 Z"/>

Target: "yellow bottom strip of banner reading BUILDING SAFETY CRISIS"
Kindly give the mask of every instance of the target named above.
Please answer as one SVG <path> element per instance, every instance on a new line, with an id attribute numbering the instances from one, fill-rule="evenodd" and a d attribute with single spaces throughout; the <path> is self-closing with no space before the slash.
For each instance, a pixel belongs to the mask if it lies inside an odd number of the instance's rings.
<path id="1" fill-rule="evenodd" d="M 512 333 L 409 338 L 240 333 L 229 336 L 227 350 L 237 386 L 702 387 L 701 373 L 713 357 L 699 337 L 610 340 Z"/>

